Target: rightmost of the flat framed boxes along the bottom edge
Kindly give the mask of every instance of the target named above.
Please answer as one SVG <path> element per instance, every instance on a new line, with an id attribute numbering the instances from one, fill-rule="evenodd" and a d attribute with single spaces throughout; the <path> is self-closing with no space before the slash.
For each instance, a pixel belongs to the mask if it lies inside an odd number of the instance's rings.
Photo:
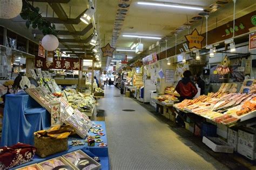
<path id="1" fill-rule="evenodd" d="M 70 164 L 76 166 L 78 169 L 100 169 L 101 165 L 85 154 L 83 151 L 78 150 L 62 156 Z"/>

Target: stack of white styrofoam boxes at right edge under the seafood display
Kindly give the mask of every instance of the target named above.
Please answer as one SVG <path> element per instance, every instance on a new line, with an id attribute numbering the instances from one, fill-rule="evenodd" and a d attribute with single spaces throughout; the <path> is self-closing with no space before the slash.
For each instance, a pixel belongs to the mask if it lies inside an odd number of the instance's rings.
<path id="1" fill-rule="evenodd" d="M 255 159 L 254 139 L 255 134 L 248 130 L 238 130 L 238 153 L 245 157 Z"/>

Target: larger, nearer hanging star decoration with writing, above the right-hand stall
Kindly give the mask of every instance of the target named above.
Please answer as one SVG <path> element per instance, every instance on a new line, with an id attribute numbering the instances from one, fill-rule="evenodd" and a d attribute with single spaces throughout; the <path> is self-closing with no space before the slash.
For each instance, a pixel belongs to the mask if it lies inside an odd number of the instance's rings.
<path id="1" fill-rule="evenodd" d="M 197 29 L 194 29 L 191 34 L 185 36 L 188 41 L 188 48 L 202 48 L 202 42 L 205 39 L 204 36 L 198 33 Z"/>

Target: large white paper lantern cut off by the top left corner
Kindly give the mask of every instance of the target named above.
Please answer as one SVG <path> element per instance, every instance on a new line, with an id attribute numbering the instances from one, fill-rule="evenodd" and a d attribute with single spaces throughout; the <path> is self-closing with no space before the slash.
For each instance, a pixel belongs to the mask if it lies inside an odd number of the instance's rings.
<path id="1" fill-rule="evenodd" d="M 15 18 L 22 11 L 22 0 L 0 0 L 0 18 Z"/>

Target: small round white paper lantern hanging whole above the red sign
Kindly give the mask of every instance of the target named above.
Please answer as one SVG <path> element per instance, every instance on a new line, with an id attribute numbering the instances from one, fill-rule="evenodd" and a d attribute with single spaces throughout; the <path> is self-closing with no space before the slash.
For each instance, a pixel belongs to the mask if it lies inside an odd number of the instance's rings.
<path id="1" fill-rule="evenodd" d="M 45 35 L 42 39 L 42 46 L 47 51 L 55 51 L 55 49 L 59 46 L 59 40 L 56 36 L 53 36 L 52 34 Z"/>

